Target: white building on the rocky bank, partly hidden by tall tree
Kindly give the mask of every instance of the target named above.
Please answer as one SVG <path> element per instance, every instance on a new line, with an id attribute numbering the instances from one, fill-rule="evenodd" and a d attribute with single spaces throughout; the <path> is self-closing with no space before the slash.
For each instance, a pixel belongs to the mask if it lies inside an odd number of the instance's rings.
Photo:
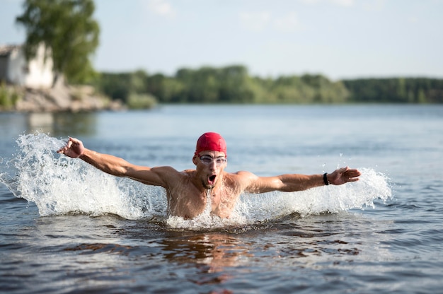
<path id="1" fill-rule="evenodd" d="M 45 46 L 26 61 L 21 46 L 0 45 L 0 81 L 26 88 L 51 88 L 54 81 L 52 58 L 45 60 Z"/>

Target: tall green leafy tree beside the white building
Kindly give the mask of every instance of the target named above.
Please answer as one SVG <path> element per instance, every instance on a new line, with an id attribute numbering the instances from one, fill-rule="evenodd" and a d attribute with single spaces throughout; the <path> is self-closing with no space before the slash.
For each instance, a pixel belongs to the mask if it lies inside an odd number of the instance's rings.
<path id="1" fill-rule="evenodd" d="M 61 75 L 73 83 L 93 75 L 89 58 L 100 33 L 93 0 L 25 0 L 23 8 L 16 22 L 26 30 L 25 55 L 34 57 L 43 43 L 54 62 L 54 84 Z"/>

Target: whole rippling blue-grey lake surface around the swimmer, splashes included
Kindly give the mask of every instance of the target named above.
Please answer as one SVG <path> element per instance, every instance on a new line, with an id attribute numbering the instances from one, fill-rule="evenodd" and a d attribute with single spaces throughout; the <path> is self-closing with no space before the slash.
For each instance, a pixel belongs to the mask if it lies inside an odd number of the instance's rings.
<path id="1" fill-rule="evenodd" d="M 230 220 L 171 218 L 161 189 L 57 154 L 68 136 L 139 165 L 359 182 L 242 195 Z M 161 106 L 0 114 L 4 293 L 441 293 L 443 105 Z"/>

